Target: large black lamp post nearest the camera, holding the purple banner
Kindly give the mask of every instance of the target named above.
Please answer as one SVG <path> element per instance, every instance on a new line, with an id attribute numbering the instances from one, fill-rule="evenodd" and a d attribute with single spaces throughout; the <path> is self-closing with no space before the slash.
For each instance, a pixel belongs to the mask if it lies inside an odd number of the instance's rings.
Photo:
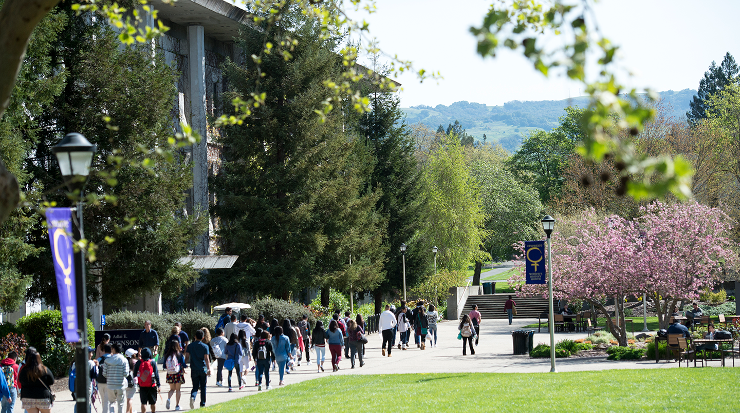
<path id="1" fill-rule="evenodd" d="M 92 156 L 98 147 L 78 133 L 70 133 L 52 148 L 56 155 L 61 177 L 70 192 L 77 197 L 77 225 L 73 225 L 73 237 L 84 238 L 82 225 L 82 195 L 90 177 Z M 77 294 L 77 324 L 80 342 L 75 347 L 75 370 L 77 372 L 75 389 L 76 412 L 90 412 L 90 369 L 87 368 L 87 280 L 85 260 L 81 250 L 75 252 L 75 283 Z"/>

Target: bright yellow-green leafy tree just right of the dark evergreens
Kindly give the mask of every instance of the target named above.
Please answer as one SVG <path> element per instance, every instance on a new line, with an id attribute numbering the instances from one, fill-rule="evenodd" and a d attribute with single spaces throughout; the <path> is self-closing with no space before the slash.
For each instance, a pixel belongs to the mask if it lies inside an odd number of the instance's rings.
<path id="1" fill-rule="evenodd" d="M 437 245 L 438 267 L 450 271 L 487 258 L 481 250 L 487 231 L 480 186 L 465 166 L 457 136 L 447 135 L 432 151 L 423 171 L 423 191 L 423 228 L 414 245 L 428 251 Z"/>

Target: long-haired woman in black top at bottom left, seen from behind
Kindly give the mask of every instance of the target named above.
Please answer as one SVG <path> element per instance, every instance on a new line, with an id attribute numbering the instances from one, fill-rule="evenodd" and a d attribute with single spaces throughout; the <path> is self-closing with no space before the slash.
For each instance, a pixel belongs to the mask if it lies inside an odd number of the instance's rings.
<path id="1" fill-rule="evenodd" d="M 28 413 L 50 413 L 53 408 L 51 386 L 54 375 L 41 362 L 36 347 L 26 349 L 25 364 L 18 372 L 21 385 L 21 405 Z"/>

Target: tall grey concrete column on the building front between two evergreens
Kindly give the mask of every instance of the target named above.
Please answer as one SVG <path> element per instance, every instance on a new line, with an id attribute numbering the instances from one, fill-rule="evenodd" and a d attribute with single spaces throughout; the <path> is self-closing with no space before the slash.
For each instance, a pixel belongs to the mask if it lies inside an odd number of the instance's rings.
<path id="1" fill-rule="evenodd" d="M 193 214 L 208 216 L 208 138 L 206 123 L 206 49 L 203 26 L 188 27 L 190 126 L 201 136 L 192 146 L 192 206 Z M 209 233 L 198 236 L 195 255 L 209 255 Z"/>

